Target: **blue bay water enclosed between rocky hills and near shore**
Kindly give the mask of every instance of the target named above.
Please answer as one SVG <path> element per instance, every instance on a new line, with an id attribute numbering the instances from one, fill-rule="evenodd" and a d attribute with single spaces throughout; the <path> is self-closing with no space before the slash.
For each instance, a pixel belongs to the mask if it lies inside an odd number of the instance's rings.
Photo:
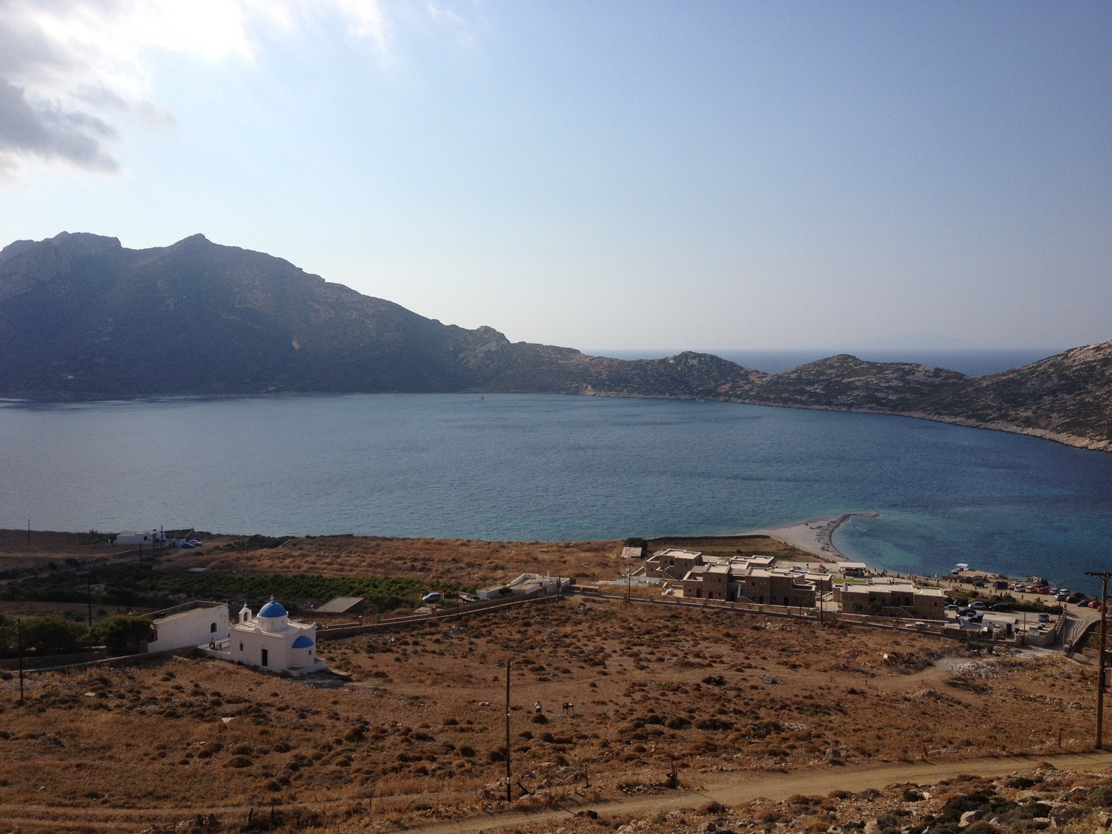
<path id="1" fill-rule="evenodd" d="M 580 539 L 874 512 L 862 560 L 1089 587 L 1112 455 L 881 415 L 539 395 L 0 407 L 0 525 Z"/>

